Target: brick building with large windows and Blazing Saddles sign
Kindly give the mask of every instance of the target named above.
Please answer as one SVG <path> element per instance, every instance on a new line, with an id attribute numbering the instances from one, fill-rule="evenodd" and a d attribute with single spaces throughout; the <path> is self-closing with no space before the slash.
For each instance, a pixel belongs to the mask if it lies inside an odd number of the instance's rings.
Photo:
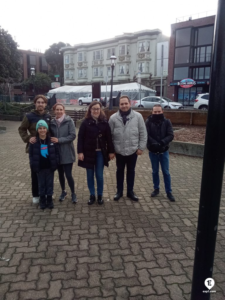
<path id="1" fill-rule="evenodd" d="M 214 23 L 208 16 L 171 24 L 167 97 L 173 101 L 193 105 L 209 91 Z"/>

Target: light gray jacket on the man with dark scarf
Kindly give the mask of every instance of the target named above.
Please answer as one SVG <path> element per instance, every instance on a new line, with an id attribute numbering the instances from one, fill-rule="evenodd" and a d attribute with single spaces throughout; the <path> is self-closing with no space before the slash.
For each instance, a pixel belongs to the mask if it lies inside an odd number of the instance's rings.
<path id="1" fill-rule="evenodd" d="M 131 155 L 140 149 L 144 151 L 147 143 L 147 131 L 142 115 L 134 110 L 127 116 L 126 125 L 119 110 L 109 120 L 115 152 L 121 155 Z"/>

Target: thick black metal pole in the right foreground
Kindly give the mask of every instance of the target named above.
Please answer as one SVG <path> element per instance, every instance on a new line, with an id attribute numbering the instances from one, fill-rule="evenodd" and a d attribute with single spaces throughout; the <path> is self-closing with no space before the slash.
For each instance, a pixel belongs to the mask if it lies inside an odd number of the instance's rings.
<path id="1" fill-rule="evenodd" d="M 218 1 L 211 64 L 208 119 L 202 166 L 191 300 L 207 300 L 205 279 L 212 278 L 225 160 L 225 0 Z M 212 290 L 214 290 L 212 288 Z"/>

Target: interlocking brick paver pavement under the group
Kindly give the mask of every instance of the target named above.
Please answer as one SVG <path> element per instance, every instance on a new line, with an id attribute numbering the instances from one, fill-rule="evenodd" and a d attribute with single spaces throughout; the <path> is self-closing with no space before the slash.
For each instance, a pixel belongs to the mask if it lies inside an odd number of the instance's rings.
<path id="1" fill-rule="evenodd" d="M 148 153 L 138 158 L 139 202 L 113 201 L 116 164 L 104 170 L 102 206 L 87 205 L 85 169 L 74 164 L 78 203 L 62 203 L 55 173 L 55 208 L 32 204 L 20 122 L 1 121 L 0 299 L 190 299 L 202 158 L 170 155 L 173 194 L 151 198 Z M 162 182 L 162 174 L 161 182 Z M 67 191 L 68 191 L 67 186 Z M 224 188 L 223 188 L 224 196 Z M 225 298 L 225 202 L 221 200 L 211 299 Z M 206 249 L 207 250 L 207 249 Z M 200 300 L 200 299 L 196 299 Z"/>

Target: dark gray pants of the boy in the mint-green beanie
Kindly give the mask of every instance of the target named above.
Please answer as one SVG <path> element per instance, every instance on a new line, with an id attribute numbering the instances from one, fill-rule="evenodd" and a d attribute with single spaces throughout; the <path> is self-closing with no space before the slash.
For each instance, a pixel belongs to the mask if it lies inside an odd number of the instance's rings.
<path id="1" fill-rule="evenodd" d="M 37 173 L 37 176 L 39 195 L 52 196 L 54 187 L 54 172 L 50 169 L 41 169 L 40 173 Z"/>

